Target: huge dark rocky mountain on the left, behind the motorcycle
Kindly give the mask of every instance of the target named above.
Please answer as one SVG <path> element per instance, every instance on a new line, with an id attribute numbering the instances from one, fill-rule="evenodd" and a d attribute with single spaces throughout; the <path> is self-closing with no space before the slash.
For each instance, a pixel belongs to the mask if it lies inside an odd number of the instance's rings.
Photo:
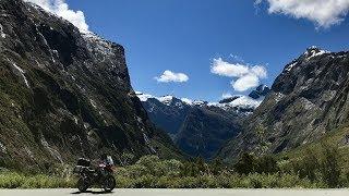
<path id="1" fill-rule="evenodd" d="M 180 157 L 135 96 L 122 46 L 21 0 L 0 8 L 0 167 Z"/>

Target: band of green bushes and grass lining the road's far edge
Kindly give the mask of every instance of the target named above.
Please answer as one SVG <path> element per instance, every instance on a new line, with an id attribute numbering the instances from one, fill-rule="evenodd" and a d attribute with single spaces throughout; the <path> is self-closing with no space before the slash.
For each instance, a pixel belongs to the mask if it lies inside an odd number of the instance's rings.
<path id="1" fill-rule="evenodd" d="M 123 167 L 117 167 L 117 186 L 124 188 L 326 188 L 349 185 L 349 173 L 340 167 L 339 148 L 324 143 L 320 148 L 306 148 L 299 157 L 256 157 L 241 154 L 233 166 L 219 159 L 205 162 L 163 160 L 145 156 L 134 162 L 134 156 L 121 156 Z M 290 154 L 291 155 L 291 154 Z M 0 172 L 0 188 L 74 187 L 76 177 L 71 168 L 60 173 L 21 174 Z"/>

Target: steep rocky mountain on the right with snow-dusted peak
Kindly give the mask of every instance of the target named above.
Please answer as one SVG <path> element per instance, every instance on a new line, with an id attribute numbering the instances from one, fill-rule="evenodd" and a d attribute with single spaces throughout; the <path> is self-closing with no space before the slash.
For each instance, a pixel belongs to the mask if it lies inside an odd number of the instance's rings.
<path id="1" fill-rule="evenodd" d="M 272 90 L 244 122 L 244 131 L 219 152 L 278 154 L 318 140 L 349 117 L 349 52 L 306 49 L 287 64 Z"/>

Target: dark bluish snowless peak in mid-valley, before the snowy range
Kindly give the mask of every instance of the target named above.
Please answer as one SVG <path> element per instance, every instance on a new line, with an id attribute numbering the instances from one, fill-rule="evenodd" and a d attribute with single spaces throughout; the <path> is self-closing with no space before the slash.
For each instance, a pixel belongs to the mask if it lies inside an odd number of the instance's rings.
<path id="1" fill-rule="evenodd" d="M 240 133 L 242 118 L 213 106 L 192 107 L 174 143 L 190 156 L 210 159 L 228 138 Z"/>

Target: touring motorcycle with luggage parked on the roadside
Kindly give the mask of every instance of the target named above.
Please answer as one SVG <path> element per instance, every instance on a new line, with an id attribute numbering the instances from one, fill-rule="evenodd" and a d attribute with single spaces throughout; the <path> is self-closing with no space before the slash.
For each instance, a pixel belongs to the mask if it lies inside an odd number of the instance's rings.
<path id="1" fill-rule="evenodd" d="M 91 167 L 87 159 L 79 159 L 74 168 L 74 173 L 79 174 L 77 188 L 84 193 L 93 185 L 101 186 L 105 192 L 109 193 L 116 187 L 116 179 L 112 170 L 113 161 L 110 156 L 100 163 L 96 169 Z"/>

